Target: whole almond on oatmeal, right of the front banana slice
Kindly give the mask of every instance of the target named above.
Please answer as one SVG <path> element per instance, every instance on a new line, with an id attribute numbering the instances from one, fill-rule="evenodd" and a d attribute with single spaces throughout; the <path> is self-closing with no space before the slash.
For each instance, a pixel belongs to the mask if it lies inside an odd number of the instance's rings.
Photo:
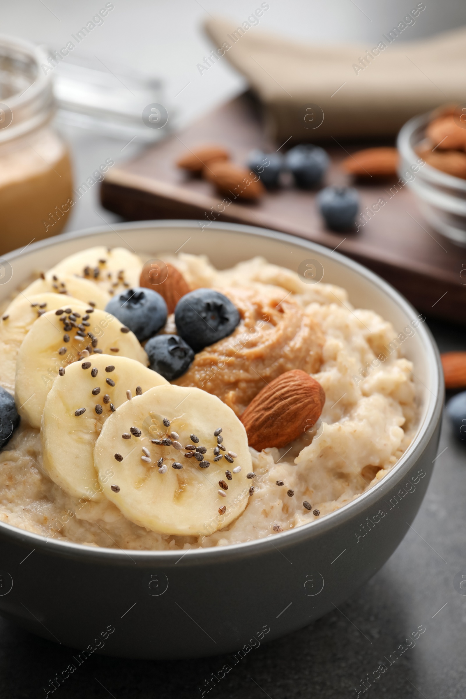
<path id="1" fill-rule="evenodd" d="M 319 419 L 325 393 L 321 384 L 301 369 L 286 371 L 249 403 L 240 420 L 249 446 L 284 447 Z"/>

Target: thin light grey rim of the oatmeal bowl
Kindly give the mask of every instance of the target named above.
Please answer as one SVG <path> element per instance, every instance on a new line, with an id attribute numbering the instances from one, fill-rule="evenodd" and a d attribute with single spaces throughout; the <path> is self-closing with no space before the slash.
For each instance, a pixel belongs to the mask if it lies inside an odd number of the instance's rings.
<path id="1" fill-rule="evenodd" d="M 69 233 L 61 233 L 58 236 L 53 236 L 52 238 L 45 238 L 43 240 L 38 240 L 37 243 L 31 243 L 28 247 L 28 254 L 34 252 L 35 250 L 41 250 L 43 248 L 52 247 L 55 243 L 65 242 L 66 240 L 74 240 L 76 238 L 92 238 L 92 236 L 98 236 L 101 233 L 117 233 L 118 230 L 124 231 L 129 229 L 145 229 L 145 228 L 180 228 L 186 227 L 189 229 L 198 230 L 200 224 L 203 222 L 196 221 L 194 219 L 155 219 L 148 221 L 136 221 L 136 222 L 122 222 L 117 224 L 105 224 L 103 226 L 92 226 L 89 229 L 82 229 L 80 231 L 71 231 Z M 388 284 L 379 275 L 370 271 L 368 268 L 364 267 L 358 262 L 345 257 L 338 252 L 330 252 L 329 248 L 319 245 L 319 243 L 314 243 L 312 240 L 307 240 L 306 238 L 299 238 L 298 236 L 293 236 L 290 233 L 282 233 L 281 231 L 272 231 L 270 229 L 259 228 L 258 226 L 246 226 L 243 224 L 235 223 L 223 223 L 217 222 L 212 226 L 212 231 L 231 231 L 233 233 L 248 233 L 249 235 L 254 235 L 261 238 L 266 238 L 273 240 L 273 238 L 281 240 L 283 243 L 288 241 L 290 244 L 300 245 L 301 247 L 307 247 L 312 252 L 322 254 L 324 257 L 328 257 L 330 254 L 335 255 L 333 259 L 336 259 L 345 266 L 349 266 L 354 272 L 363 275 L 367 281 L 372 282 L 375 286 L 381 288 L 383 291 L 391 296 L 395 303 L 401 305 L 402 309 L 407 312 L 418 315 L 418 312 L 414 306 L 407 301 L 407 299 L 400 294 L 391 284 Z M 123 239 L 122 239 L 123 240 Z M 124 240 L 123 240 L 124 242 Z M 126 243 L 126 245 L 128 245 Z M 24 250 L 24 249 L 23 249 Z M 23 250 L 12 250 L 6 253 L 3 257 L 0 257 L 0 261 L 13 261 L 15 259 L 20 259 Z M 331 529 L 338 528 L 344 525 L 345 521 L 352 519 L 354 514 L 359 510 L 365 510 L 367 501 L 372 500 L 373 504 L 378 503 L 382 499 L 382 496 L 386 495 L 393 487 L 394 480 L 402 480 L 405 473 L 412 467 L 413 463 L 419 459 L 423 453 L 425 447 L 427 447 L 432 435 L 435 433 L 437 424 L 439 420 L 442 419 L 442 408 L 443 405 L 442 398 L 444 396 L 444 384 L 443 384 L 443 372 L 442 363 L 440 361 L 439 351 L 435 340 L 432 338 L 432 334 L 428 327 L 424 324 L 418 326 L 418 330 L 421 330 L 425 336 L 425 340 L 432 349 L 434 355 L 433 366 L 437 369 L 437 394 L 432 394 L 430 398 L 429 409 L 425 415 L 423 423 L 418 426 L 418 432 L 414 437 L 413 442 L 409 445 L 406 452 L 398 460 L 398 463 L 392 468 L 392 470 L 384 477 L 377 485 L 372 487 L 370 490 L 361 493 L 361 495 L 352 500 L 347 505 L 343 505 L 335 512 L 330 512 L 330 514 L 323 517 L 320 520 L 314 520 L 309 524 L 303 524 L 302 526 L 289 529 L 282 533 L 275 534 L 273 537 L 273 546 L 279 549 L 286 549 L 293 547 L 296 544 L 302 542 L 302 540 L 316 538 L 321 533 L 326 532 Z M 398 477 L 398 478 L 395 478 Z M 205 564 L 216 564 L 225 559 L 244 559 L 245 557 L 255 556 L 261 554 L 261 552 L 268 549 L 270 545 L 270 537 L 264 537 L 261 539 L 249 540 L 246 542 L 240 542 L 238 544 L 229 544 L 224 547 L 206 547 L 197 549 L 176 549 L 173 551 L 153 551 L 153 550 L 143 550 L 138 551 L 136 549 L 110 549 L 107 547 L 92 547 L 84 544 L 78 544 L 75 542 L 62 541 L 57 539 L 46 538 L 41 534 L 36 534 L 29 532 L 24 529 L 20 529 L 11 524 L 6 524 L 6 522 L 0 522 L 0 532 L 4 531 L 6 538 L 12 539 L 18 544 L 24 544 L 25 542 L 30 542 L 35 545 L 36 549 L 41 550 L 42 553 L 54 556 L 64 556 L 66 559 L 75 559 L 80 561 L 94 561 L 99 559 L 99 563 L 104 563 L 107 565 L 118 564 L 118 565 L 130 565 L 131 563 L 136 563 L 133 558 L 138 559 L 140 563 L 158 563 L 159 565 L 176 565 L 178 561 L 184 559 L 184 565 L 198 565 L 202 563 Z M 269 549 L 270 550 L 270 549 Z M 184 553 L 182 553 L 184 552 Z M 182 556 L 180 557 L 180 553 Z M 189 556 L 187 555 L 189 553 Z M 175 561 L 175 559 L 177 559 Z"/>

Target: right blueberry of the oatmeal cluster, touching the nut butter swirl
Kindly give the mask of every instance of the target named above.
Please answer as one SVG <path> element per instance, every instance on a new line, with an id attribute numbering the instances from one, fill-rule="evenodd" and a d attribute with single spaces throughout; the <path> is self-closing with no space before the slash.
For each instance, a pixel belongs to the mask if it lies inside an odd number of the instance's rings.
<path id="1" fill-rule="evenodd" d="M 238 309 L 213 289 L 190 291 L 175 308 L 177 331 L 194 352 L 231 335 L 239 322 Z"/>

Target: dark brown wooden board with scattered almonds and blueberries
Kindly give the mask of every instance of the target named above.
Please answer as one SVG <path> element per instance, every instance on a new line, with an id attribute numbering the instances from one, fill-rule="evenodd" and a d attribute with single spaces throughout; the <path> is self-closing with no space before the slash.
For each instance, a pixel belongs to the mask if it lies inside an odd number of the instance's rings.
<path id="1" fill-rule="evenodd" d="M 253 148 L 284 152 L 291 145 L 291 141 L 282 147 L 268 141 L 259 107 L 247 94 L 242 95 L 137 159 L 112 168 L 101 185 L 103 206 L 127 220 L 210 218 L 293 233 L 361 262 L 423 313 L 466 323 L 466 271 L 462 275 L 466 250 L 428 225 L 407 187 L 395 191 L 390 181 L 356 185 L 363 212 L 381 198 L 386 204 L 354 233 L 328 231 L 316 210 L 316 192 L 301 191 L 291 182 L 265 194 L 259 203 L 233 202 L 219 213 L 217 205 L 222 198 L 212 185 L 175 166 L 187 149 L 205 143 L 226 146 L 232 159 L 243 165 Z M 339 140 L 325 145 L 332 161 L 326 184 L 345 185 L 349 180 L 339 167 L 340 161 L 349 152 L 374 144 Z M 217 215 L 212 216 L 212 210 Z"/>

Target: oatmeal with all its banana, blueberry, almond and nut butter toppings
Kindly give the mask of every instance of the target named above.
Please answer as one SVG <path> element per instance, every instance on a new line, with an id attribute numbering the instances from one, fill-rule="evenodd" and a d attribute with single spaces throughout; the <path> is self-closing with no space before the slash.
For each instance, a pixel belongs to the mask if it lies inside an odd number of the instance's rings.
<path id="1" fill-rule="evenodd" d="M 4 310 L 1 521 L 89 546 L 224 546 L 384 478 L 417 426 L 391 323 L 265 259 L 158 257 L 152 283 L 144 256 L 84 250 Z"/>

